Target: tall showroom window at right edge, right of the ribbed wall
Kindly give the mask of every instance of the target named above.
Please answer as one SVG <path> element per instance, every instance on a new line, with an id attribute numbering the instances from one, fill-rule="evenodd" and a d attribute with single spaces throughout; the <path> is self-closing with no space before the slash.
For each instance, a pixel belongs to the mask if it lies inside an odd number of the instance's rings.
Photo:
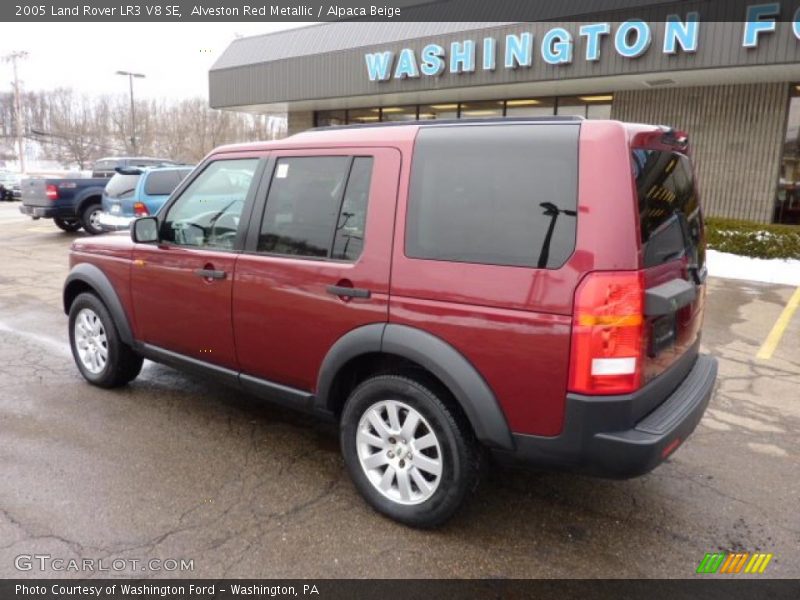
<path id="1" fill-rule="evenodd" d="M 778 194 L 775 199 L 775 223 L 800 225 L 800 85 L 792 86 L 789 118 L 783 139 Z"/>

